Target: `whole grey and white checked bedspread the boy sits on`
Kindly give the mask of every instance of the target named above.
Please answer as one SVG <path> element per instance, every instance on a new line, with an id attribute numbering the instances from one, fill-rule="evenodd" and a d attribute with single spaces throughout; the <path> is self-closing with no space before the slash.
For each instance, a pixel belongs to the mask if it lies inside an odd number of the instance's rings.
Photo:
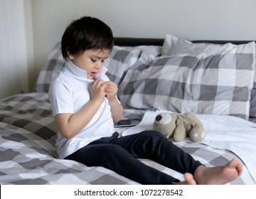
<path id="1" fill-rule="evenodd" d="M 87 167 L 56 158 L 56 128 L 47 92 L 15 95 L 0 101 L 0 184 L 137 184 L 102 167 Z M 127 110 L 126 117 L 142 112 Z M 124 129 L 117 129 L 124 131 Z M 227 163 L 236 155 L 204 144 L 177 144 L 207 166 Z M 149 166 L 182 180 L 181 173 L 153 161 Z M 241 161 L 242 163 L 242 161 Z M 250 171 L 231 184 L 255 184 Z"/>

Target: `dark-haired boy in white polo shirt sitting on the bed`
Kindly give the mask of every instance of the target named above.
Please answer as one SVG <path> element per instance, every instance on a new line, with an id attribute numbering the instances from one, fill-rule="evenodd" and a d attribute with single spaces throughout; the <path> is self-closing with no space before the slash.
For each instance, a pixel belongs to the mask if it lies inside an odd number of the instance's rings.
<path id="1" fill-rule="evenodd" d="M 103 166 L 142 184 L 225 184 L 242 173 L 233 159 L 225 166 L 207 168 L 157 131 L 119 137 L 113 122 L 122 118 L 117 85 L 105 75 L 102 63 L 114 45 L 109 26 L 97 18 L 70 23 L 61 41 L 65 68 L 51 83 L 49 99 L 58 127 L 59 158 L 87 166 Z M 137 158 L 184 173 L 180 182 L 146 166 Z"/>

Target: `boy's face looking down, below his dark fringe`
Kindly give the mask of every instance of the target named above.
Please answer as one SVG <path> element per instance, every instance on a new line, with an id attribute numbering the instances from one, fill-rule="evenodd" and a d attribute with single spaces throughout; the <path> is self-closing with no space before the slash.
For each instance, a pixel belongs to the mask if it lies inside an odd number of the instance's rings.
<path id="1" fill-rule="evenodd" d="M 68 58 L 82 70 L 86 70 L 87 79 L 93 80 L 93 77 L 102 70 L 104 60 L 107 59 L 110 50 L 92 49 L 78 55 L 68 54 Z"/>

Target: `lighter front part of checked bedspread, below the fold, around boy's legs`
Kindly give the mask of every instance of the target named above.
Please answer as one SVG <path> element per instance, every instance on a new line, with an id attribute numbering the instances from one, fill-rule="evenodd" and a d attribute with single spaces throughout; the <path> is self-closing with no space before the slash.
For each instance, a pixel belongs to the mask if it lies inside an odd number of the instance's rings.
<path id="1" fill-rule="evenodd" d="M 87 167 L 81 163 L 61 160 L 53 156 L 53 146 L 31 131 L 0 122 L 0 184 L 137 184 L 117 173 L 100 166 Z M 206 166 L 225 164 L 235 157 L 228 151 L 212 149 L 203 144 L 178 143 L 184 151 Z M 180 180 L 181 173 L 141 159 L 143 163 Z M 243 164 L 242 164 L 243 165 Z M 244 166 L 244 165 L 243 165 Z M 244 173 L 248 174 L 244 166 Z M 21 174 L 22 173 L 22 174 Z M 246 175 L 239 176 L 230 184 L 252 184 Z"/>

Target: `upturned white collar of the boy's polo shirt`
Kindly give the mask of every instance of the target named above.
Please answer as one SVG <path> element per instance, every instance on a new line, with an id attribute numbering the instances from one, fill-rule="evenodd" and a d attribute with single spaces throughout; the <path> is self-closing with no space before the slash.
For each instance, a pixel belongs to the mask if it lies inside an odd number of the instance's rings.
<path id="1" fill-rule="evenodd" d="M 83 69 L 79 68 L 78 66 L 76 66 L 70 59 L 66 60 L 65 70 L 71 76 L 75 77 L 75 79 L 84 80 L 84 81 L 88 81 L 89 80 L 89 79 L 87 79 L 87 72 L 86 72 L 86 70 L 83 70 Z M 97 74 L 95 77 L 97 77 L 100 80 L 103 80 L 106 72 L 107 72 L 107 68 L 105 68 L 103 66 L 102 70 L 100 71 L 100 73 Z"/>

